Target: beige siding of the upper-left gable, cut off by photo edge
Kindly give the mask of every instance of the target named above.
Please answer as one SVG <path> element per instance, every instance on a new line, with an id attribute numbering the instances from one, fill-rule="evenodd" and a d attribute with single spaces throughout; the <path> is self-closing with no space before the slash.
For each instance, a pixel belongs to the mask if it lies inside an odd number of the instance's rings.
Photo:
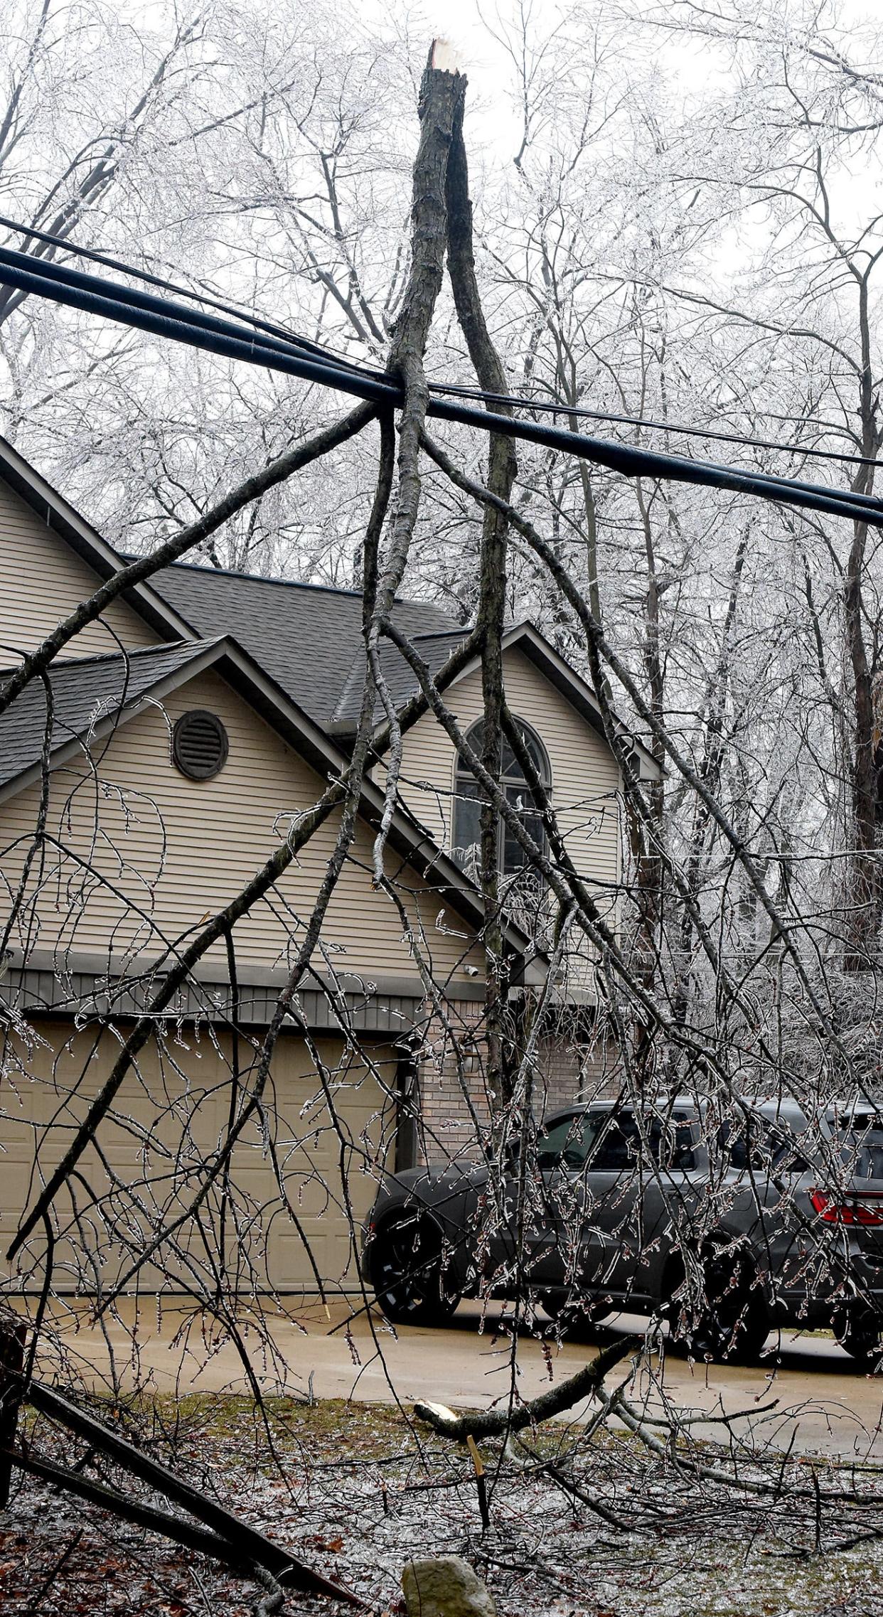
<path id="1" fill-rule="evenodd" d="M 37 514 L 0 480 L 0 666 L 10 668 L 57 627 L 100 579 Z M 65 657 L 95 657 L 157 645 L 158 635 L 125 602 L 87 624 Z"/>

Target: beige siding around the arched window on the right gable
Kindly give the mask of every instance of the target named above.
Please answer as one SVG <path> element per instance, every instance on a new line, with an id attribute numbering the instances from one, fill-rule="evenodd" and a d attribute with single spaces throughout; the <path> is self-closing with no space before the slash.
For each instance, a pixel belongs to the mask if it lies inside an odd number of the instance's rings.
<path id="1" fill-rule="evenodd" d="M 571 859 L 587 883 L 613 891 L 619 876 L 619 770 L 610 747 L 566 697 L 513 648 L 503 660 L 506 700 L 540 737 L 551 768 L 551 802 Z M 482 676 L 475 669 L 446 694 L 461 726 L 482 716 Z M 422 825 L 451 847 L 454 749 L 432 715 L 404 737 L 403 797 Z"/>

